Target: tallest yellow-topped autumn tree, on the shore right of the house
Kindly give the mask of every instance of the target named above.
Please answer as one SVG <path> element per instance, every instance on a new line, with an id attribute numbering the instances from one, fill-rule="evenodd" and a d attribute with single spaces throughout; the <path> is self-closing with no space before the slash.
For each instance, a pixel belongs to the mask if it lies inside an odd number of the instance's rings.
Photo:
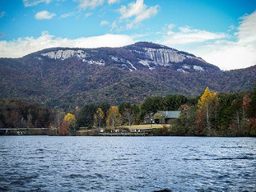
<path id="1" fill-rule="evenodd" d="M 218 113 L 218 94 L 210 91 L 206 87 L 205 92 L 198 100 L 198 111 L 196 124 L 199 130 L 210 135 L 211 131 L 216 128 L 216 119 Z"/>

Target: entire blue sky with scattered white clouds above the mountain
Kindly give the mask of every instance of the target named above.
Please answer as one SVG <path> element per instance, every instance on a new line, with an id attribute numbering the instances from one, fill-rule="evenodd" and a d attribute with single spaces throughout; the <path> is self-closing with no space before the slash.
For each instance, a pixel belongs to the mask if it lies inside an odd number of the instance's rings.
<path id="1" fill-rule="evenodd" d="M 256 0 L 1 0 L 0 58 L 155 42 L 234 70 L 256 65 Z"/>

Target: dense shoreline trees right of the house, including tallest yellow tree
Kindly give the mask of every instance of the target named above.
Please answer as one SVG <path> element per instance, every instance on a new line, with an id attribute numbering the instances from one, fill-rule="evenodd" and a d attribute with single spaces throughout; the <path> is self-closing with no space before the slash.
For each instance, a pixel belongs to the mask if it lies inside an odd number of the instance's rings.
<path id="1" fill-rule="evenodd" d="M 169 134 L 256 136 L 256 86 L 247 93 L 217 94 L 206 88 L 196 105 L 182 105 Z"/>

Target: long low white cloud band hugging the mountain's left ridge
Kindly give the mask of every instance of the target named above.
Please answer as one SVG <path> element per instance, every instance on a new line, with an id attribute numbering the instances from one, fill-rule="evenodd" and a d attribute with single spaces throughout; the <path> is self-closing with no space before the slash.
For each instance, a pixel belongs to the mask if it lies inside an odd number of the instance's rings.
<path id="1" fill-rule="evenodd" d="M 119 47 L 134 43 L 133 37 L 125 34 L 104 34 L 89 38 L 54 38 L 53 35 L 43 32 L 39 38 L 18 38 L 13 41 L 0 41 L 0 58 L 20 58 L 50 47 Z"/>

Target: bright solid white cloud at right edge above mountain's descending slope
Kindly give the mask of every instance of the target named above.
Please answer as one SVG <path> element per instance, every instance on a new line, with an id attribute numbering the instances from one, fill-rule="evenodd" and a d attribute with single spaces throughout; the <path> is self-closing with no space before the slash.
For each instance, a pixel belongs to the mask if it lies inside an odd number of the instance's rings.
<path id="1" fill-rule="evenodd" d="M 198 47 L 194 54 L 222 70 L 240 69 L 256 65 L 256 11 L 242 18 L 235 41 L 217 41 Z"/>

